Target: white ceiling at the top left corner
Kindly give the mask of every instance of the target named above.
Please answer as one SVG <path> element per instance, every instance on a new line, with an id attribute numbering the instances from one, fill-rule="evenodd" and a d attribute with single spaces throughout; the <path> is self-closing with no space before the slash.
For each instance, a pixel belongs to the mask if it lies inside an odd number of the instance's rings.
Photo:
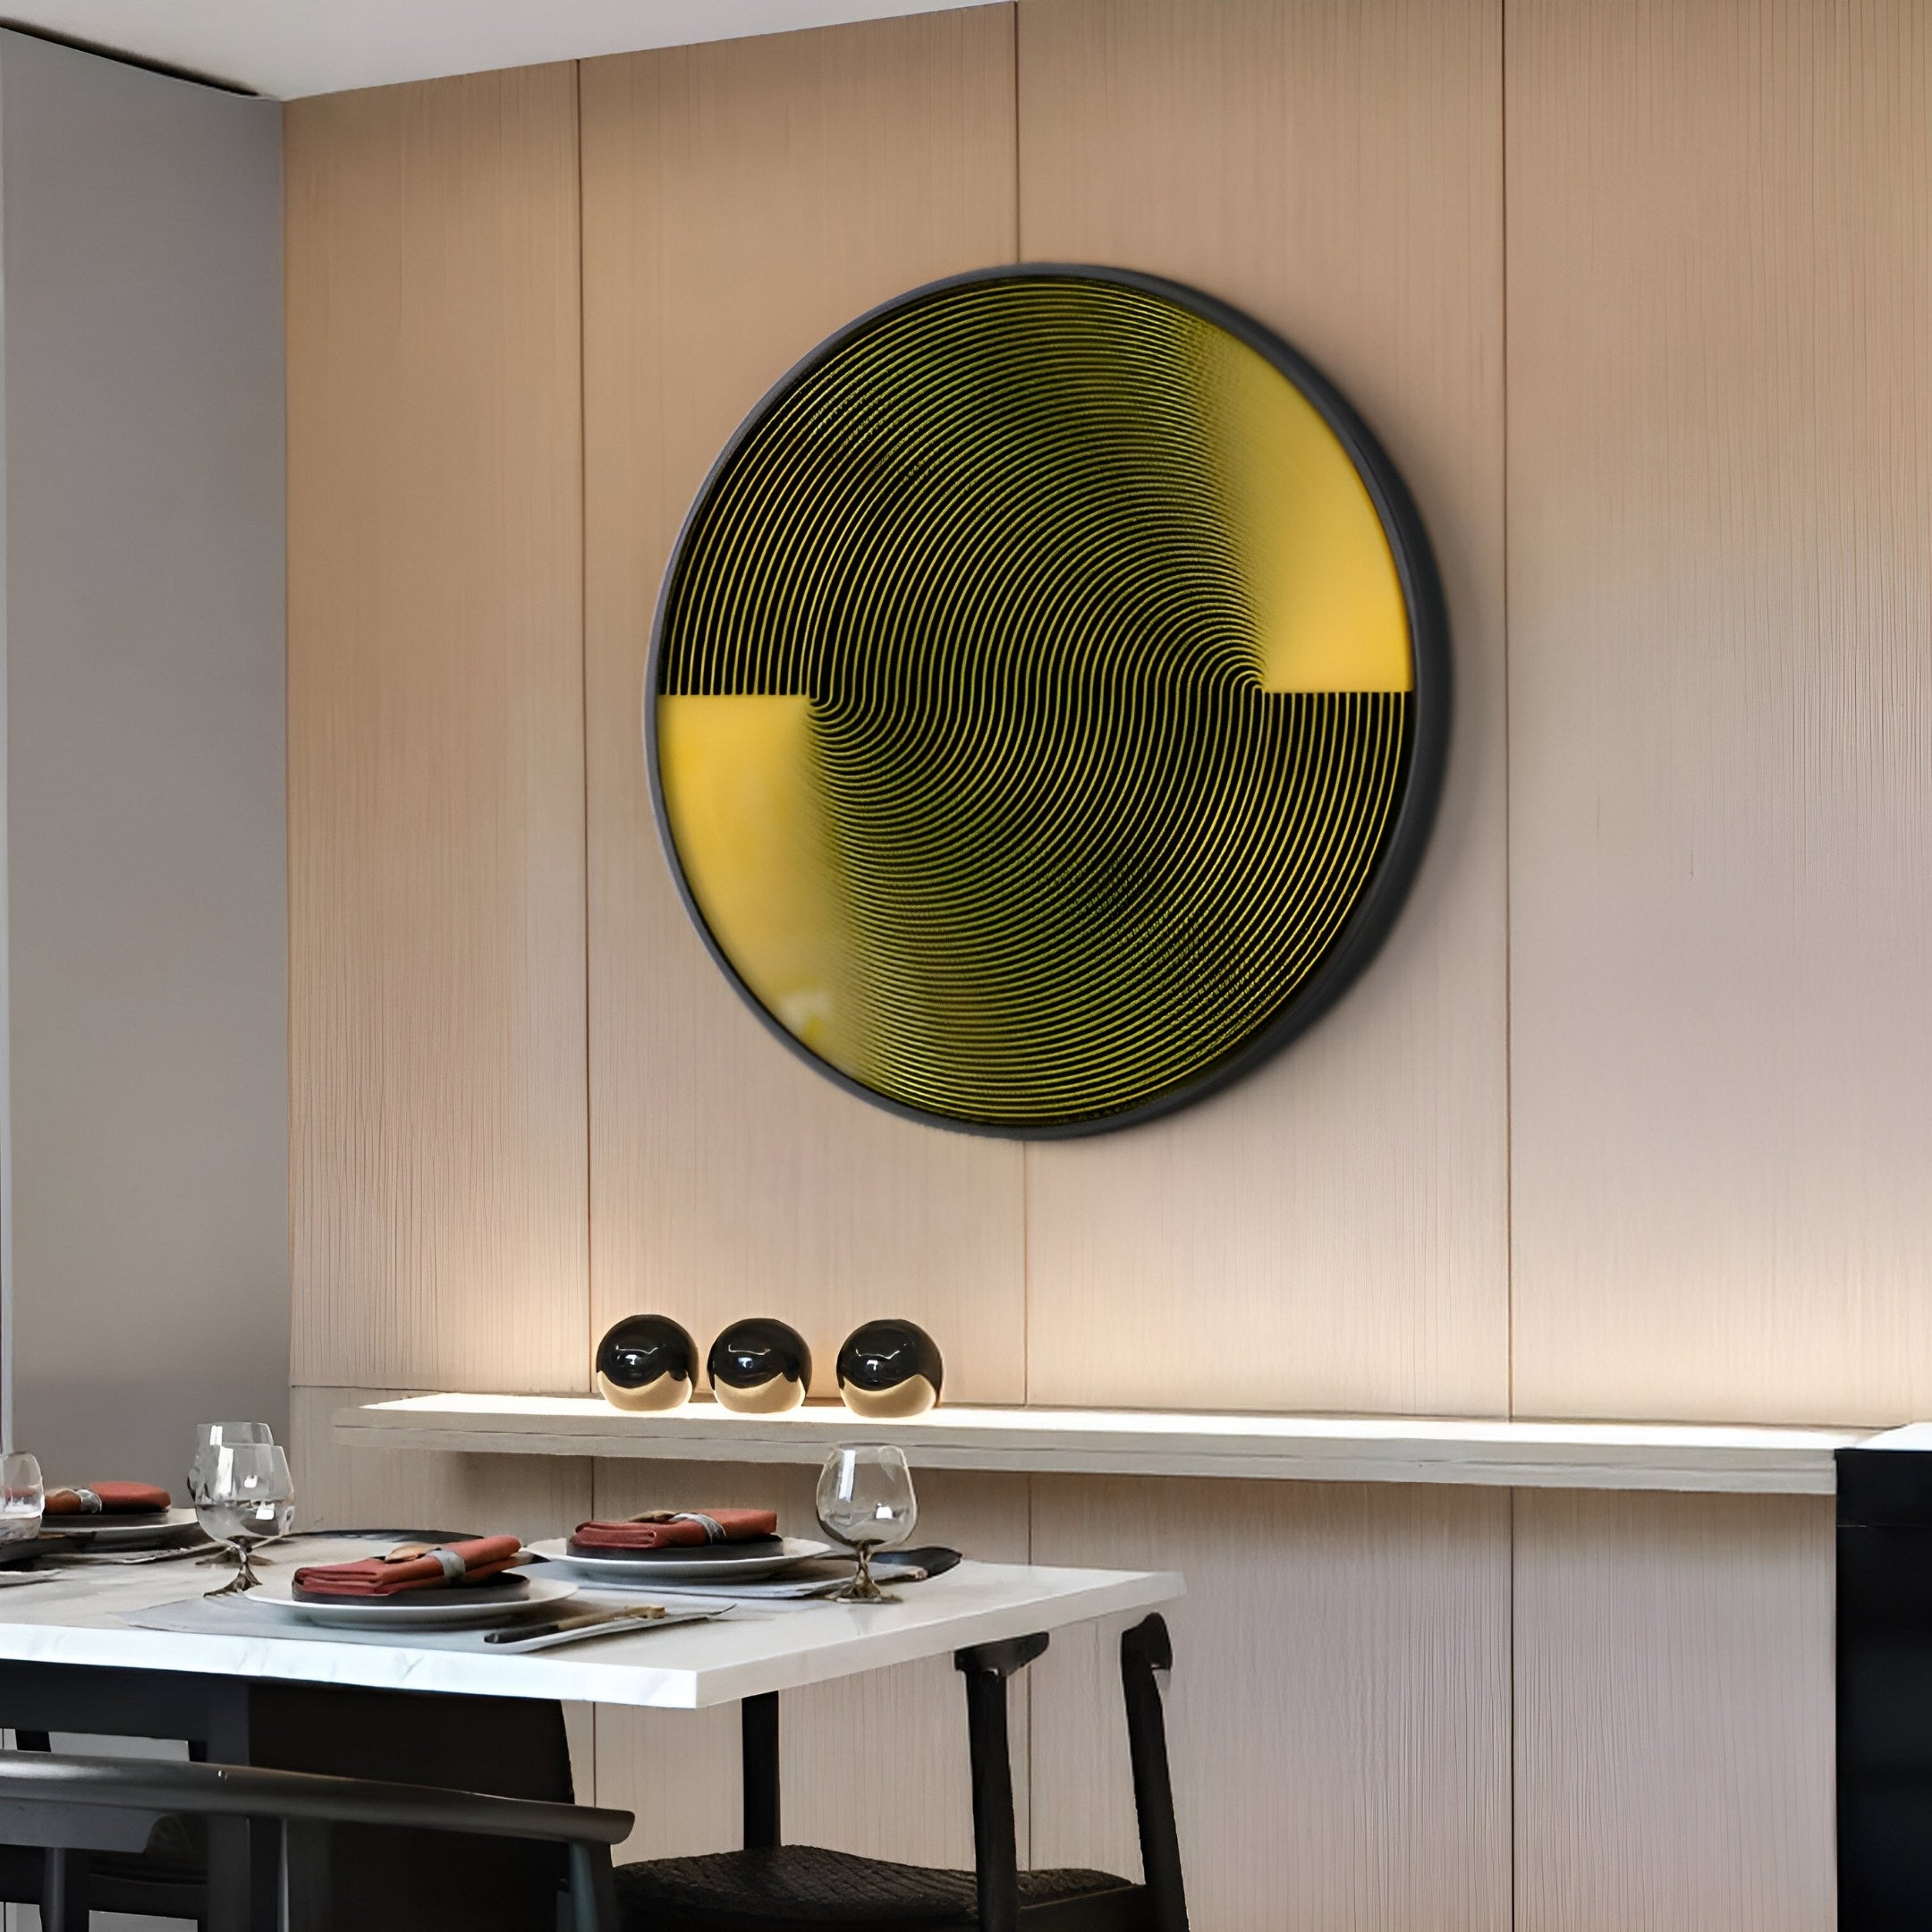
<path id="1" fill-rule="evenodd" d="M 639 46 L 734 41 L 976 0 L 0 0 L 41 27 L 294 100 Z"/>

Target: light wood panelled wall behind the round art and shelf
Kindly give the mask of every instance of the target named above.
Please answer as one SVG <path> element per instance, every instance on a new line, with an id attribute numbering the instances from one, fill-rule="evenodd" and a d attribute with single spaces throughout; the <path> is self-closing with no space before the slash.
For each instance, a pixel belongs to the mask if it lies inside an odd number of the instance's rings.
<path id="1" fill-rule="evenodd" d="M 338 1389 L 580 1387 L 641 1306 L 784 1314 L 821 1368 L 904 1310 L 983 1401 L 1922 1408 L 1928 31 L 1913 0 L 1020 0 L 290 108 L 311 1513 L 728 1499 L 327 1451 Z M 1016 255 L 1198 280 L 1325 363 L 1422 500 L 1459 676 L 1358 989 L 1204 1107 L 1024 1153 L 759 1032 L 639 748 L 657 574 L 742 410 L 867 303 Z M 981 1553 L 1190 1573 L 1206 1932 L 1830 1922 L 1816 1503 L 929 1505 Z M 1084 1640 L 1037 1671 L 1028 1830 L 1130 1868 L 1097 1677 Z M 796 1828 L 962 1859 L 954 1700 L 790 1700 Z M 728 1725 L 580 1729 L 641 1845 L 724 1841 Z"/>

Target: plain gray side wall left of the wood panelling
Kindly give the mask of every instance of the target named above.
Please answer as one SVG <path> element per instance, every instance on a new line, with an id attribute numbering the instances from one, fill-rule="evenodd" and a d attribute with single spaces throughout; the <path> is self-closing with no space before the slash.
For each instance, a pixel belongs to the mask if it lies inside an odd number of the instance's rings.
<path id="1" fill-rule="evenodd" d="M 280 108 L 0 33 L 0 197 L 14 1439 L 180 1488 L 288 1408 Z"/>

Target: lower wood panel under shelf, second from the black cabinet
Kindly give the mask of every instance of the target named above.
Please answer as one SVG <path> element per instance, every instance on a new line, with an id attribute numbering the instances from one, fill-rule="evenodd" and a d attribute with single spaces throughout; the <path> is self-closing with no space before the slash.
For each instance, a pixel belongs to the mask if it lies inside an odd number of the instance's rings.
<path id="1" fill-rule="evenodd" d="M 1041 1563 L 1179 1569 L 1167 1694 L 1204 1932 L 1507 1932 L 1509 1497 L 1034 1478 Z M 1115 1631 L 1034 1665 L 1034 1859 L 1140 1870 Z"/>

